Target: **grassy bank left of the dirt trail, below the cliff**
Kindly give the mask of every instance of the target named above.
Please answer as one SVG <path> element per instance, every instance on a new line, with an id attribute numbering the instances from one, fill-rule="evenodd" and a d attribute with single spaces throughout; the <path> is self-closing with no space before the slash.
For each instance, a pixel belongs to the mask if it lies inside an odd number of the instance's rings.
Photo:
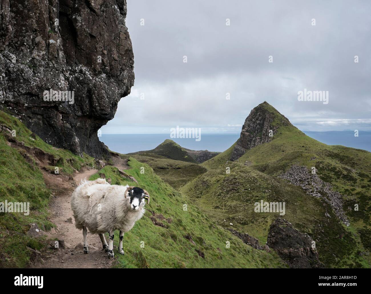
<path id="1" fill-rule="evenodd" d="M 69 151 L 54 148 L 37 136 L 36 139 L 31 138 L 32 132 L 18 119 L 2 111 L 0 125 L 16 130 L 16 137 L 13 139 L 54 156 L 61 174 L 71 174 L 73 168 L 80 169 L 82 165 L 93 164 L 93 158 L 87 155 L 81 158 Z M 46 230 L 52 227 L 47 221 L 50 191 L 46 188 L 42 172 L 36 163 L 26 160 L 22 149 L 8 146 L 4 132 L 7 131 L 0 132 L 0 202 L 30 202 L 30 214 L 0 213 L 0 267 L 24 267 L 30 257 L 26 246 L 40 249 L 43 243 L 43 240 L 26 235 L 29 224 L 36 223 Z"/>

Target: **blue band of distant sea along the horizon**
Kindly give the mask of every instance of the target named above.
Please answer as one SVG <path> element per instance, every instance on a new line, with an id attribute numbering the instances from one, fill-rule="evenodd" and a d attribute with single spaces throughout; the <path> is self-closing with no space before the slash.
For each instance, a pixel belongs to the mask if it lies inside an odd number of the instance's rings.
<path id="1" fill-rule="evenodd" d="M 304 132 L 309 137 L 328 145 L 343 145 L 371 152 L 371 132 L 359 132 L 355 137 L 353 131 Z M 172 139 L 170 134 L 119 134 L 102 135 L 99 139 L 112 151 L 131 153 L 156 148 L 165 139 L 171 139 L 180 146 L 192 150 L 226 151 L 240 134 L 202 134 L 201 141 L 196 139 Z"/>

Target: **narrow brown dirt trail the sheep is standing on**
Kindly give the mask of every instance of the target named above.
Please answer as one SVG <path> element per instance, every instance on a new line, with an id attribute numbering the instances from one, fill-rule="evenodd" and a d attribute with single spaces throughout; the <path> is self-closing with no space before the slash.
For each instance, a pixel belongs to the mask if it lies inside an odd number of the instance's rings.
<path id="1" fill-rule="evenodd" d="M 44 180 L 53 192 L 49 202 L 50 221 L 56 225 L 47 232 L 47 239 L 58 239 L 59 248 L 46 250 L 39 262 L 33 268 L 108 268 L 113 260 L 109 260 L 102 248 L 101 239 L 97 234 L 89 234 L 89 254 L 83 253 L 82 231 L 75 228 L 75 219 L 71 210 L 70 198 L 73 190 L 84 178 L 95 174 L 98 170 L 83 168 L 73 175 L 73 179 L 66 176 L 44 174 Z M 52 241 L 54 242 L 54 241 Z M 52 242 L 50 242 L 52 244 Z M 63 244 L 64 243 L 64 244 Z M 52 248 L 52 246 L 50 246 Z"/>

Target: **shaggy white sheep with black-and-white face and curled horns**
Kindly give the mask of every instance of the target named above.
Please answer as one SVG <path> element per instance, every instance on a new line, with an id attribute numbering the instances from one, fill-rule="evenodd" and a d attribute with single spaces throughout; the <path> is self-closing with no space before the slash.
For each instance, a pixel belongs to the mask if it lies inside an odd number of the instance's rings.
<path id="1" fill-rule="evenodd" d="M 145 199 L 150 195 L 144 189 L 134 186 L 110 185 L 105 179 L 81 181 L 71 196 L 71 208 L 76 228 L 82 229 L 84 254 L 89 253 L 86 240 L 87 228 L 92 234 L 99 234 L 103 249 L 109 258 L 114 258 L 114 230 L 120 230 L 118 251 L 124 254 L 122 239 L 124 233 L 134 227 L 145 212 Z M 109 245 L 104 233 L 109 234 Z"/>

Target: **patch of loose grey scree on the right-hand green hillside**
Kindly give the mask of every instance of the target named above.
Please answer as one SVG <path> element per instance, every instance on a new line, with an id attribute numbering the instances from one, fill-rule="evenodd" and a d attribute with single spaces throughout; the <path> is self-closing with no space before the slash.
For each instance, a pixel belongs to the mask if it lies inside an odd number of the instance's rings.
<path id="1" fill-rule="evenodd" d="M 318 175 L 309 172 L 305 166 L 294 164 L 279 177 L 290 181 L 293 185 L 300 186 L 306 194 L 323 199 L 331 206 L 335 215 L 346 226 L 349 226 L 349 220 L 343 210 L 343 196 L 339 192 L 332 191 L 332 186 L 322 181 Z M 328 212 L 326 216 L 330 217 Z"/>

